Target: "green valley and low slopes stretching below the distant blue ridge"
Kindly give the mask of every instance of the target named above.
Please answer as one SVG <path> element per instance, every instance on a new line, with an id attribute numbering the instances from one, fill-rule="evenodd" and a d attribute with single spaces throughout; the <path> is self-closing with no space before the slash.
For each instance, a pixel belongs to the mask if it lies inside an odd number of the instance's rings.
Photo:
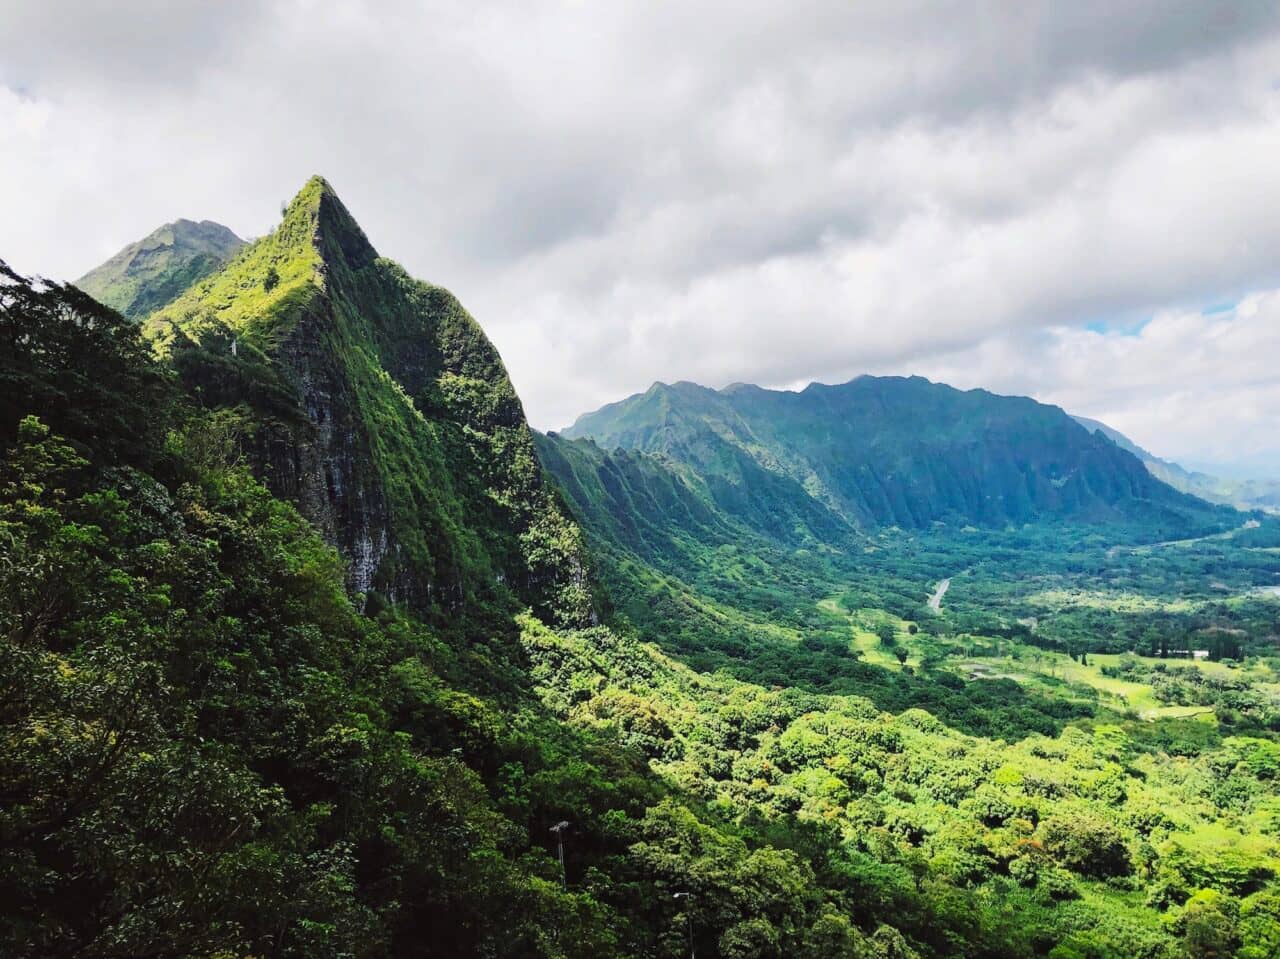
<path id="1" fill-rule="evenodd" d="M 827 862 L 852 857 L 860 896 L 925 951 L 1253 955 L 1275 940 L 1263 757 L 1280 748 L 1280 659 L 1260 590 L 1276 524 L 1155 543 L 1140 516 L 934 525 L 797 548 L 678 457 L 554 435 L 540 451 L 620 615 L 719 670 L 637 685 L 618 679 L 636 649 L 596 649 L 594 679 L 550 684 L 593 695 L 553 707 L 634 722 L 712 808 L 820 825 Z M 740 727 L 744 711 L 759 725 Z M 1245 913 L 1271 918 L 1245 933 Z"/>

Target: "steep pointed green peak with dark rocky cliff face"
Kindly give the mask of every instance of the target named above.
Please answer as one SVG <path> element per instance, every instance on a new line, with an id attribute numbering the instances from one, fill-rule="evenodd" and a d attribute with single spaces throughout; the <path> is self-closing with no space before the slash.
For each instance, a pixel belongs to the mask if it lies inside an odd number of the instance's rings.
<path id="1" fill-rule="evenodd" d="M 355 593 L 457 612 L 513 592 L 561 621 L 591 617 L 580 533 L 543 484 L 493 344 L 447 291 L 381 259 L 325 181 L 145 329 L 239 420 Z"/>

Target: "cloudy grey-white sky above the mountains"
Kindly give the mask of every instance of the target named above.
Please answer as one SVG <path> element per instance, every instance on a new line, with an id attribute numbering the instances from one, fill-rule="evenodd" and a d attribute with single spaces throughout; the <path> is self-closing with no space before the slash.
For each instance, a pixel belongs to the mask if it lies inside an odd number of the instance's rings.
<path id="1" fill-rule="evenodd" d="M 0 257 L 314 173 L 534 425 L 914 373 L 1280 476 L 1280 5 L 0 0 Z"/>

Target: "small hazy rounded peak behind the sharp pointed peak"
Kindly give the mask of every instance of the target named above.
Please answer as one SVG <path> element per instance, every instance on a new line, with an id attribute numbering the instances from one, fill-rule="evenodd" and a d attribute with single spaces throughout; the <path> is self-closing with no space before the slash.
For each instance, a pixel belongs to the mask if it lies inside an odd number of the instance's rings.
<path id="1" fill-rule="evenodd" d="M 244 246 L 212 220 L 174 220 L 129 243 L 76 286 L 132 319 L 172 302 L 196 280 L 225 266 Z"/>

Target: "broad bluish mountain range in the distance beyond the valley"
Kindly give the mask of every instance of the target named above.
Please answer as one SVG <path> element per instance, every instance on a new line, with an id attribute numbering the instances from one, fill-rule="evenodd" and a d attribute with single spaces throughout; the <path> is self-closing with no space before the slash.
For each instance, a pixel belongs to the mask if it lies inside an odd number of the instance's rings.
<path id="1" fill-rule="evenodd" d="M 1211 512 L 1057 407 L 919 376 L 801 392 L 654 384 L 563 431 L 664 457 L 753 528 L 835 530 L 1064 520 L 1175 530 Z"/>

